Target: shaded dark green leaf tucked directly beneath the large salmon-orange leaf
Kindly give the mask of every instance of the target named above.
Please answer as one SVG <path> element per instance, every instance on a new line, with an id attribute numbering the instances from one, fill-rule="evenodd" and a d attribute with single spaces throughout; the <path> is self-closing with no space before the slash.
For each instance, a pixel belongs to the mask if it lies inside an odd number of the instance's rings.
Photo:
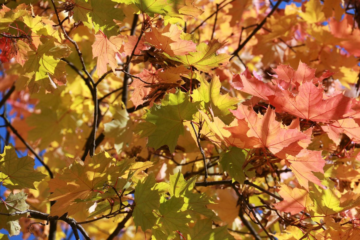
<path id="1" fill-rule="evenodd" d="M 255 177 L 255 172 L 248 172 L 247 169 L 251 168 L 252 165 L 248 164 L 243 169 L 245 163 L 244 151 L 237 147 L 230 147 L 229 151 L 224 151 L 220 154 L 220 165 L 224 171 L 240 183 L 246 180 L 245 172 L 249 177 Z"/>

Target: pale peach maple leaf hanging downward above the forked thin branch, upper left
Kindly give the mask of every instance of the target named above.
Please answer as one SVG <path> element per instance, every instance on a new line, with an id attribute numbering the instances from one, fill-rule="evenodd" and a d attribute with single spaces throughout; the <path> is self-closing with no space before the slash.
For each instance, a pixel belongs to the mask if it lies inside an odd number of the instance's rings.
<path id="1" fill-rule="evenodd" d="M 96 65 L 98 76 L 102 76 L 102 74 L 107 72 L 107 64 L 110 65 L 112 71 L 115 73 L 115 68 L 117 68 L 115 55 L 119 52 L 123 36 L 111 36 L 108 39 L 104 34 L 98 34 L 95 35 L 95 38 L 96 40 L 92 47 L 93 58 L 98 57 L 98 64 Z"/>

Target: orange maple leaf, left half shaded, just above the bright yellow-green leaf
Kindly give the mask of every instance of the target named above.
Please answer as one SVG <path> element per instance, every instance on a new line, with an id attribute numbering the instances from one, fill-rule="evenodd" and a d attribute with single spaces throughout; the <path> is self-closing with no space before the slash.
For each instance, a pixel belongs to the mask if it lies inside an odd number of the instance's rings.
<path id="1" fill-rule="evenodd" d="M 173 57 L 195 51 L 196 44 L 194 42 L 180 39 L 183 31 L 179 30 L 176 25 L 169 23 L 162 31 L 154 27 L 151 30 L 151 32 L 145 32 L 145 41 L 163 53 Z"/>

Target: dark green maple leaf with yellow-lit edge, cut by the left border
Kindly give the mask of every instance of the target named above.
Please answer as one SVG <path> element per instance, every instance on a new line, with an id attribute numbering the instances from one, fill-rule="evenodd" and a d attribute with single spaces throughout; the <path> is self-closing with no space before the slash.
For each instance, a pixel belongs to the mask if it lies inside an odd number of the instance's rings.
<path id="1" fill-rule="evenodd" d="M 34 182 L 42 181 L 46 175 L 34 170 L 34 159 L 26 156 L 18 158 L 13 145 L 5 146 L 0 154 L 0 179 L 10 190 L 25 187 L 35 189 Z"/>

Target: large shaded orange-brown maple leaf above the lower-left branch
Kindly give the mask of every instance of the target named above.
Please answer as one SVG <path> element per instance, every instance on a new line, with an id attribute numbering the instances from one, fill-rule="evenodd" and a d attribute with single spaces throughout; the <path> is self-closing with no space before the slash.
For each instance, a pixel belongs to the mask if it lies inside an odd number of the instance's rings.
<path id="1" fill-rule="evenodd" d="M 125 161 L 126 162 L 126 161 Z M 99 195 L 104 183 L 114 184 L 118 176 L 125 174 L 126 169 L 121 165 L 116 165 L 116 161 L 108 153 L 99 153 L 91 158 L 87 158 L 85 163 L 74 160 L 73 163 L 63 173 L 49 181 L 50 192 L 49 200 L 57 202 L 51 207 L 51 216 L 62 216 L 68 212 L 72 215 L 93 205 L 93 197 Z M 125 183 L 124 183 L 125 184 Z M 75 202 L 76 199 L 85 200 Z M 86 203 L 89 201 L 89 203 Z M 77 204 L 81 206 L 76 207 Z M 69 206 L 73 206 L 69 210 Z"/>

